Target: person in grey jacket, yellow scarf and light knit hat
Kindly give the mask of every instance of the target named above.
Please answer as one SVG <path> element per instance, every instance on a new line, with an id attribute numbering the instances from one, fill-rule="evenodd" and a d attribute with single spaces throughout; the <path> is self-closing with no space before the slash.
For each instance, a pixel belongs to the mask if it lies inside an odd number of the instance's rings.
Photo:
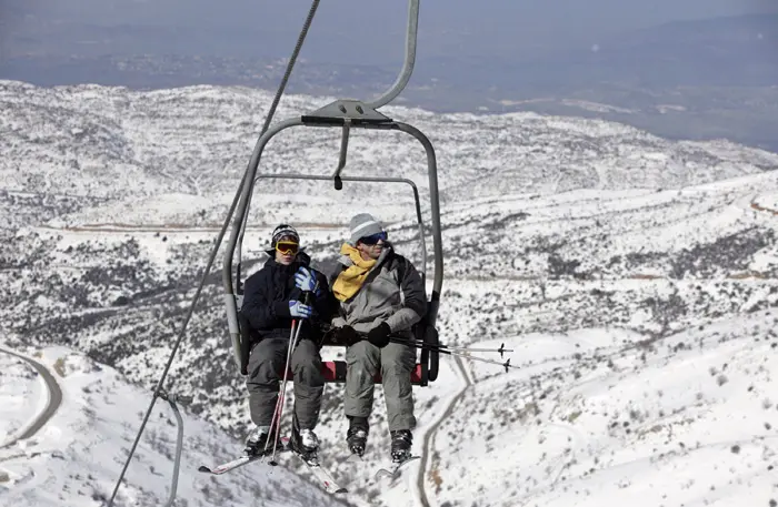
<path id="1" fill-rule="evenodd" d="M 369 434 L 373 377 L 381 374 L 391 435 L 391 456 L 401 463 L 411 456 L 413 394 L 411 372 L 416 348 L 389 336 L 412 338 L 411 326 L 427 312 L 423 282 L 413 264 L 395 252 L 382 224 L 368 213 L 351 219 L 332 277 L 332 294 L 340 302 L 333 318 L 346 351 L 345 412 L 349 419 L 347 444 L 361 456 Z"/>

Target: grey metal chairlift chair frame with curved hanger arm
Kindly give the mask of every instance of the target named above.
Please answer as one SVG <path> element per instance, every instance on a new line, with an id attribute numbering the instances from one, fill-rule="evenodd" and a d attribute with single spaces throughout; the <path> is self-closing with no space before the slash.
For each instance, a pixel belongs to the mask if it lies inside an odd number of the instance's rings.
<path id="1" fill-rule="evenodd" d="M 222 282 L 225 287 L 225 303 L 227 307 L 227 320 L 232 341 L 232 351 L 236 364 L 241 367 L 248 354 L 250 344 L 250 329 L 248 322 L 242 321 L 239 315 L 242 296 L 240 295 L 240 263 L 241 245 L 246 233 L 248 210 L 255 195 L 255 186 L 259 180 L 282 179 L 282 180 L 308 180 L 308 181 L 331 181 L 336 190 L 342 190 L 343 182 L 370 182 L 370 183 L 402 183 L 410 185 L 416 203 L 416 217 L 419 227 L 419 239 L 421 245 L 421 266 L 419 272 L 422 280 L 427 280 L 427 246 L 425 240 L 425 224 L 421 216 L 421 205 L 419 202 L 419 191 L 413 181 L 405 178 L 381 178 L 381 176 L 348 176 L 341 175 L 346 166 L 348 152 L 348 141 L 351 129 L 365 130 L 390 130 L 405 132 L 421 143 L 427 154 L 427 173 L 429 178 L 429 203 L 432 226 L 432 252 L 435 262 L 435 274 L 432 278 L 432 290 L 428 294 L 428 311 L 421 322 L 415 328 L 413 334 L 417 339 L 423 341 L 425 347 L 421 349 L 420 362 L 411 373 L 413 385 L 426 386 L 438 377 L 439 353 L 431 346 L 438 345 L 438 333 L 435 327 L 438 306 L 440 303 L 440 292 L 443 282 L 443 258 L 440 231 L 440 205 L 438 196 L 438 173 L 435 148 L 417 128 L 397 120 L 392 120 L 380 113 L 378 109 L 389 103 L 405 88 L 413 68 L 416 55 L 416 33 L 418 28 L 419 0 L 410 0 L 408 32 L 406 39 L 406 61 L 396 83 L 383 95 L 372 102 L 359 100 L 336 100 L 309 114 L 291 118 L 270 126 L 262 134 L 255 146 L 251 160 L 240 183 L 240 199 L 232 220 L 232 229 L 225 255 Z M 262 151 L 267 143 L 276 134 L 292 126 L 306 128 L 339 128 L 341 129 L 340 158 L 338 166 L 331 175 L 310 175 L 297 173 L 258 174 L 258 166 Z M 231 210 L 232 212 L 232 210 Z M 233 270 L 235 265 L 235 270 Z M 425 284 L 426 286 L 426 284 Z M 242 321 L 242 322 L 241 322 Z M 333 346 L 331 342 L 325 342 L 323 346 Z M 246 372 L 241 372 L 246 374 Z M 328 383 L 342 383 L 346 381 L 346 362 L 327 361 L 323 362 L 322 373 Z M 376 381 L 380 381 L 380 374 Z"/>

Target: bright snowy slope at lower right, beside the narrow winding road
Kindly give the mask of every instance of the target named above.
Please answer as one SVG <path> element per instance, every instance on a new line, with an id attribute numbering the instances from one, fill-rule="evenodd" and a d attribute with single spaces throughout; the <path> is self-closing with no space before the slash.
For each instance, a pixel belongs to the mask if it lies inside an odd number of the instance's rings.
<path id="1" fill-rule="evenodd" d="M 508 337 L 522 368 L 471 365 L 440 428 L 437 505 L 772 505 L 777 318 Z"/>

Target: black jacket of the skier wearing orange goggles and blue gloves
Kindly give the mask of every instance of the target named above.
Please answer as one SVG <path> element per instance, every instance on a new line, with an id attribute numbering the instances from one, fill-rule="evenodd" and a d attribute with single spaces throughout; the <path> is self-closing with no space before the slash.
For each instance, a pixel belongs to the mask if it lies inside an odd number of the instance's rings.
<path id="1" fill-rule="evenodd" d="M 302 301 L 302 291 L 295 286 L 295 273 L 300 266 L 309 266 L 310 257 L 300 252 L 288 266 L 269 258 L 265 266 L 246 281 L 243 305 L 240 310 L 241 321 L 247 322 L 252 333 L 252 341 L 283 337 L 291 334 L 292 316 L 289 313 L 290 301 Z M 320 272 L 311 272 L 319 282 L 319 296 L 312 296 L 313 316 L 303 320 L 300 339 L 319 338 L 319 326 L 329 323 L 337 308 L 337 301 L 329 290 L 327 277 Z"/>

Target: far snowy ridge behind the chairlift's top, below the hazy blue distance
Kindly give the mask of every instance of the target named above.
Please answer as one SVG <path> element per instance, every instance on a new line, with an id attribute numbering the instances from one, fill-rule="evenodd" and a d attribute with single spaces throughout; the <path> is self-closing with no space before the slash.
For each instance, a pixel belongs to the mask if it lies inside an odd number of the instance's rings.
<path id="1" fill-rule="evenodd" d="M 57 215 L 70 224 L 149 224 L 144 210 L 159 209 L 149 203 L 152 195 L 183 193 L 189 194 L 188 213 L 173 206 L 153 223 L 219 222 L 270 102 L 269 92 L 242 88 L 133 92 L 0 81 L 0 179 L 13 191 L 0 194 L 0 202 L 18 213 L 43 193 L 49 201 L 64 201 L 59 204 L 64 213 Z M 327 102 L 286 97 L 276 118 L 311 112 Z M 778 168 L 778 155 L 765 151 L 726 141 L 669 142 L 597 120 L 535 113 L 435 115 L 399 107 L 386 112 L 428 133 L 438 152 L 447 203 L 505 192 L 677 187 Z M 288 130 L 268 144 L 261 170 L 330 174 L 339 141 L 337 129 Z M 422 176 L 426 160 L 421 146 L 406 134 L 355 131 L 347 172 Z M 425 179 L 418 183 L 427 187 Z M 323 191 L 339 201 L 369 195 L 376 204 L 393 207 L 398 192 L 406 194 L 406 189 L 390 186 L 337 194 L 330 187 L 268 182 L 262 195 Z M 111 201 L 102 205 L 106 197 Z M 47 204 L 46 209 L 56 205 Z M 78 210 L 86 214 L 69 214 Z M 42 213 L 32 223 L 52 217 Z M 17 220 L 12 224 L 30 223 Z M 273 223 L 276 217 L 258 212 L 256 221 Z"/>

